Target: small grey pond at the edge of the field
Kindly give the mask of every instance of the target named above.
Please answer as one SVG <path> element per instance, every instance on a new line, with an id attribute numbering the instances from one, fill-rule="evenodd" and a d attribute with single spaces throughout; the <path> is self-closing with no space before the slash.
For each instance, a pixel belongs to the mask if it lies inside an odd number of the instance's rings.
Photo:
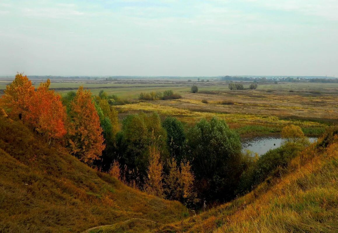
<path id="1" fill-rule="evenodd" d="M 317 138 L 309 138 L 310 142 L 314 142 Z M 284 139 L 276 137 L 257 137 L 242 143 L 242 152 L 250 150 L 259 155 L 265 154 L 270 149 L 280 147 Z"/>

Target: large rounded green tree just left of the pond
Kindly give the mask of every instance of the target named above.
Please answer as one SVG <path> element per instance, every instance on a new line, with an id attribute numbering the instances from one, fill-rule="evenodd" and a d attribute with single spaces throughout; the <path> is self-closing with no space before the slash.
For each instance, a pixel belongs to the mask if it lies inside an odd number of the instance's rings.
<path id="1" fill-rule="evenodd" d="M 201 119 L 187 133 L 189 160 L 199 192 L 211 199 L 233 195 L 241 169 L 241 143 L 223 120 Z"/>

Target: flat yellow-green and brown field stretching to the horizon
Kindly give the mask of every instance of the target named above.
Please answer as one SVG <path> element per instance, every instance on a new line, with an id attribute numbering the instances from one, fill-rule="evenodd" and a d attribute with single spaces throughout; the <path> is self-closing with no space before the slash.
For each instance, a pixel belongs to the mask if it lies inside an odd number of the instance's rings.
<path id="1" fill-rule="evenodd" d="M 41 80 L 32 82 L 37 86 Z M 1 80 L 0 89 L 4 89 L 8 83 L 10 80 Z M 198 86 L 198 93 L 190 93 L 193 84 Z M 215 80 L 51 80 L 51 88 L 61 95 L 76 90 L 80 85 L 90 89 L 94 95 L 104 90 L 109 95 L 129 100 L 131 104 L 116 106 L 119 119 L 128 113 L 156 111 L 161 117 L 170 114 L 189 125 L 202 117 L 217 116 L 243 137 L 277 134 L 289 123 L 302 127 L 308 136 L 319 136 L 328 125 L 338 120 L 337 83 L 258 83 L 256 90 L 229 90 L 227 82 Z M 243 85 L 248 87 L 250 82 L 243 82 Z M 179 93 L 182 98 L 138 100 L 141 92 L 163 92 L 168 89 Z"/>

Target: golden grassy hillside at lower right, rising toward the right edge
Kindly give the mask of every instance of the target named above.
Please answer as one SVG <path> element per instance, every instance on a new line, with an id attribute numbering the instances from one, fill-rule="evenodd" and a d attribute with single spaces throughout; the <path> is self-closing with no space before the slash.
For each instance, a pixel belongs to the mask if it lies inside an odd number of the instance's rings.
<path id="1" fill-rule="evenodd" d="M 156 232 L 338 232 L 338 135 L 323 142 L 293 159 L 282 178 Z"/>

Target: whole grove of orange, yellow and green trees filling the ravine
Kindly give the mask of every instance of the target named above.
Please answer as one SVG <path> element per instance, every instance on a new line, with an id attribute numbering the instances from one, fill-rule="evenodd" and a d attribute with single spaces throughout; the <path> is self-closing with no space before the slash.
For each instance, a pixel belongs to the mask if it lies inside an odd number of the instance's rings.
<path id="1" fill-rule="evenodd" d="M 67 147 L 80 161 L 107 172 L 148 194 L 189 206 L 224 202 L 244 194 L 283 168 L 309 144 L 298 126 L 286 126 L 285 144 L 258 157 L 241 152 L 239 135 L 217 118 L 201 119 L 192 127 L 157 113 L 128 114 L 120 125 L 117 98 L 101 91 L 93 96 L 79 87 L 61 97 L 37 90 L 17 74 L 0 106 L 53 145 Z M 167 91 L 162 95 L 171 96 Z M 53 142 L 53 143 L 52 143 Z"/>

